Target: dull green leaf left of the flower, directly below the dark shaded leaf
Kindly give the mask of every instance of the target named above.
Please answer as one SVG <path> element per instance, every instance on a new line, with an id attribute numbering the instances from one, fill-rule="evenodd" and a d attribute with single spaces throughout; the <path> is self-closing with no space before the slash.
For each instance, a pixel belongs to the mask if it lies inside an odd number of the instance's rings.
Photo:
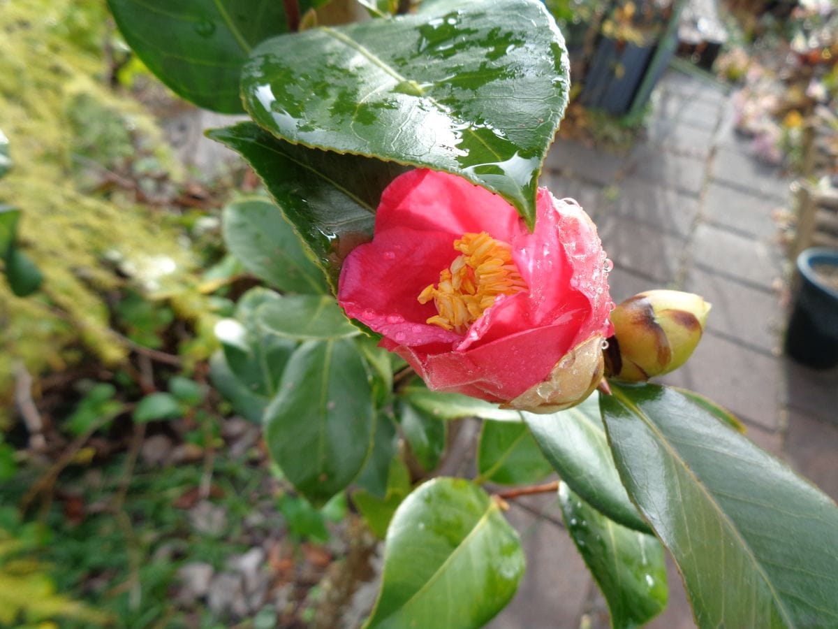
<path id="1" fill-rule="evenodd" d="M 227 249 L 244 267 L 283 293 L 328 293 L 323 271 L 312 262 L 292 226 L 265 199 L 230 203 L 222 214 Z"/>

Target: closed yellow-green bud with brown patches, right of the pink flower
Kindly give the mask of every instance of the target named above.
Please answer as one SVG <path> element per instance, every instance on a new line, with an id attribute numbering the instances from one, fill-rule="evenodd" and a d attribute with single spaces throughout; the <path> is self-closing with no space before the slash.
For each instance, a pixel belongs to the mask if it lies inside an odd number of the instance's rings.
<path id="1" fill-rule="evenodd" d="M 643 382 L 675 371 L 696 349 L 710 306 L 699 295 L 677 290 L 647 290 L 623 301 L 611 313 L 608 377 Z"/>

